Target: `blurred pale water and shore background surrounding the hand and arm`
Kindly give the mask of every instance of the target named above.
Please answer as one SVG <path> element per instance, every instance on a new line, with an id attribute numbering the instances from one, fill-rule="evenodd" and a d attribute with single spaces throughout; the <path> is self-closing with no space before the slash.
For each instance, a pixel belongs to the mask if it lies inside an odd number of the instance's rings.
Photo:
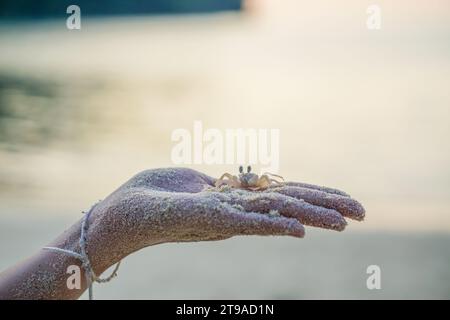
<path id="1" fill-rule="evenodd" d="M 172 166 L 172 131 L 201 120 L 280 129 L 279 173 L 349 192 L 366 221 L 149 248 L 98 298 L 450 298 L 448 1 L 377 1 L 377 31 L 369 1 L 197 2 L 80 4 L 72 31 L 62 5 L 45 19 L 2 11 L 0 270 L 136 172 Z M 381 290 L 366 288 L 370 264 Z"/>

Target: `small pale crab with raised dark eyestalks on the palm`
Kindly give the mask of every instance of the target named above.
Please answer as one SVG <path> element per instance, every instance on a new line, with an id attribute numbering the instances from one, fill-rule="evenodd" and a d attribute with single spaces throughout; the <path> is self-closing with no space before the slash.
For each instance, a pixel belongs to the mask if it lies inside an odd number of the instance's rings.
<path id="1" fill-rule="evenodd" d="M 215 186 L 221 187 L 223 185 L 227 185 L 232 188 L 257 191 L 267 189 L 271 185 L 283 184 L 284 179 L 281 176 L 265 172 L 261 177 L 259 177 L 256 173 L 252 173 L 251 171 L 251 166 L 247 167 L 247 172 L 244 172 L 244 168 L 239 166 L 239 176 L 224 173 L 219 179 L 216 180 Z M 281 182 L 271 177 L 281 179 Z"/>

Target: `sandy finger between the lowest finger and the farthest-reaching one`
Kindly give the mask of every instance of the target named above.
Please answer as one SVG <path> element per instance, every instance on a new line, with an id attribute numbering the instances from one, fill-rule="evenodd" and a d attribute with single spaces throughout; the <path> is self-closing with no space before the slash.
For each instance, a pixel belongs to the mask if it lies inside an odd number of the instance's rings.
<path id="1" fill-rule="evenodd" d="M 295 218 L 304 225 L 342 231 L 347 222 L 333 209 L 312 205 L 303 200 L 279 193 L 258 193 L 252 195 L 231 196 L 233 204 L 240 205 L 245 211 L 274 213 Z"/>

